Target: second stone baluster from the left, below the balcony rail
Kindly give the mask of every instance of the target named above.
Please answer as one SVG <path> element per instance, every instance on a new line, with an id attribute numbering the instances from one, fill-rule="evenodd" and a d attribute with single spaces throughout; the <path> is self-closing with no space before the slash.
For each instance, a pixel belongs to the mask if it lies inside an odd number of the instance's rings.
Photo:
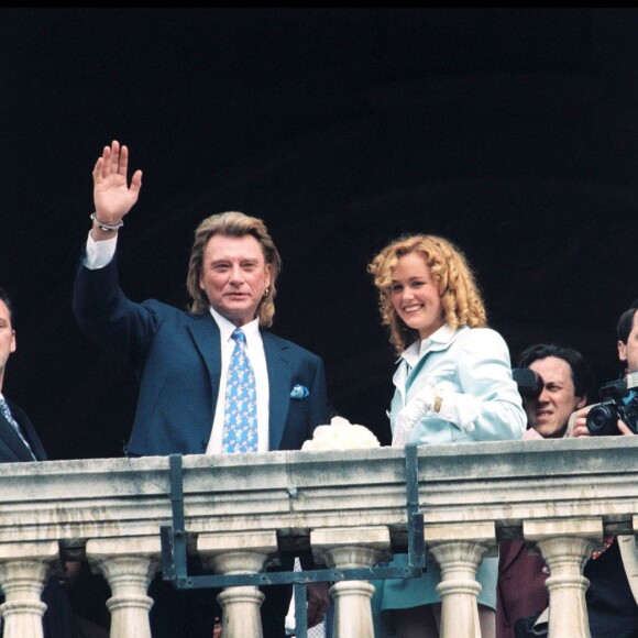
<path id="1" fill-rule="evenodd" d="M 87 559 L 103 574 L 112 596 L 110 638 L 151 638 L 148 585 L 161 565 L 160 535 L 90 539 Z"/>

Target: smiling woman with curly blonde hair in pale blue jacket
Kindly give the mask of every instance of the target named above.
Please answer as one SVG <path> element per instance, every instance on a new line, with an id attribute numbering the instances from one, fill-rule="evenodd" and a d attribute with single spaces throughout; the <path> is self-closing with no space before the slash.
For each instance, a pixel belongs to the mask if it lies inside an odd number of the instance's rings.
<path id="1" fill-rule="evenodd" d="M 393 447 L 521 439 L 526 416 L 512 378 L 509 350 L 487 328 L 481 292 L 464 254 L 430 234 L 399 238 L 369 265 L 380 295 L 382 321 L 399 355 L 389 419 Z M 405 554 L 393 564 L 405 564 Z M 485 559 L 482 636 L 494 636 L 498 559 Z M 386 612 L 400 638 L 438 638 L 440 571 L 435 560 L 419 579 L 375 582 L 373 608 Z M 389 615 L 389 618 L 388 618 Z"/>

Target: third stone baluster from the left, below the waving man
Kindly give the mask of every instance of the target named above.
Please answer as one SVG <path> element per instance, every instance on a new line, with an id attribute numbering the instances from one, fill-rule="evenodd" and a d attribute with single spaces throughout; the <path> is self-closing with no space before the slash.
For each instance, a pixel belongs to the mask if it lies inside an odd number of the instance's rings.
<path id="1" fill-rule="evenodd" d="M 197 551 L 202 565 L 218 574 L 255 574 L 276 554 L 277 535 L 275 531 L 200 534 Z M 260 607 L 264 594 L 258 587 L 224 587 L 217 600 L 222 609 L 223 638 L 263 637 Z"/>

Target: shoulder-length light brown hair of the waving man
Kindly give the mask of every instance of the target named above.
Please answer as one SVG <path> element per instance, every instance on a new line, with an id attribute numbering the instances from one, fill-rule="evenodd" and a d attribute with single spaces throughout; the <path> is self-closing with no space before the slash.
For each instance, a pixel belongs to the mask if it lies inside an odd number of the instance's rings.
<path id="1" fill-rule="evenodd" d="M 271 266 L 271 286 L 267 295 L 262 298 L 257 306 L 257 316 L 261 326 L 272 326 L 275 316 L 275 296 L 277 295 L 275 284 L 282 272 L 282 258 L 268 234 L 266 224 L 261 219 L 249 217 L 243 212 L 229 211 L 211 215 L 197 227 L 186 278 L 186 287 L 191 299 L 188 309 L 194 315 L 201 315 L 210 308 L 210 301 L 206 292 L 199 287 L 199 282 L 204 271 L 204 253 L 208 241 L 215 234 L 234 238 L 250 234 L 260 242 L 266 264 Z"/>

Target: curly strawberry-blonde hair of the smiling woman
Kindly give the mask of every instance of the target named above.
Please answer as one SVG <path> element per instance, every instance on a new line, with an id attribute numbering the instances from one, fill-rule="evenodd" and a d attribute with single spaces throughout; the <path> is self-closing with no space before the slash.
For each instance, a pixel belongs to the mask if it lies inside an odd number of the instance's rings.
<path id="1" fill-rule="evenodd" d="M 378 308 L 389 340 L 397 354 L 419 340 L 419 332 L 406 326 L 392 302 L 392 283 L 400 257 L 408 253 L 422 255 L 430 275 L 439 286 L 443 320 L 450 328 L 484 327 L 487 315 L 474 273 L 463 252 L 451 241 L 431 235 L 404 235 L 385 246 L 367 265 L 378 290 Z"/>

